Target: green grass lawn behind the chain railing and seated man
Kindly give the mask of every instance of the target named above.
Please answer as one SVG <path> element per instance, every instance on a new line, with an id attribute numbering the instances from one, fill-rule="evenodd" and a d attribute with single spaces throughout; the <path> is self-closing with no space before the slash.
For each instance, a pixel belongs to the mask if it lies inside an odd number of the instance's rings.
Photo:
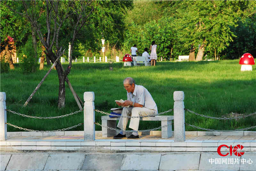
<path id="1" fill-rule="evenodd" d="M 154 98 L 158 112 L 173 108 L 173 92 L 184 91 L 185 108 L 213 117 L 232 117 L 230 113 L 256 112 L 256 67 L 251 72 L 241 72 L 239 60 L 201 62 L 157 62 L 155 67 L 123 67 L 114 63 L 113 71 L 107 63 L 73 63 L 68 78 L 78 96 L 83 100 L 85 91 L 95 93 L 95 109 L 110 112 L 117 107 L 115 100 L 126 99 L 123 79 L 133 77 Z M 64 68 L 67 67 L 64 65 Z M 33 74 L 22 74 L 19 65 L 9 73 L 1 73 L 1 92 L 6 93 L 7 109 L 32 116 L 59 116 L 78 111 L 79 108 L 66 84 L 66 107 L 58 109 L 59 81 L 56 70 L 48 75 L 40 89 L 26 107 L 23 104 L 44 77 L 50 66 Z M 39 68 L 39 66 L 38 66 Z M 173 112 L 166 113 L 173 115 Z M 102 114 L 95 113 L 101 123 Z M 60 119 L 39 120 L 24 118 L 7 112 L 7 122 L 34 130 L 56 130 L 83 123 L 83 112 Z M 239 120 L 213 120 L 186 111 L 185 122 L 202 128 L 232 130 L 256 125 L 256 115 Z M 157 128 L 160 122 L 141 121 L 139 130 Z M 96 130 L 101 130 L 96 125 Z M 8 131 L 21 131 L 7 126 Z M 83 130 L 83 126 L 71 130 Z M 186 131 L 200 129 L 186 126 Z M 249 131 L 256 131 L 256 128 Z"/>

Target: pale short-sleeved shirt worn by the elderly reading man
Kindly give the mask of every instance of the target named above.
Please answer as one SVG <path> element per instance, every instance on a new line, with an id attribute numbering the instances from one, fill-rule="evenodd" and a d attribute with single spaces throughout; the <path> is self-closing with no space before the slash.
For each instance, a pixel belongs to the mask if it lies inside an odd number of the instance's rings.
<path id="1" fill-rule="evenodd" d="M 143 105 L 143 107 L 146 107 L 148 109 L 153 109 L 156 111 L 156 113 L 158 113 L 157 106 L 153 97 L 148 92 L 148 90 L 141 85 L 135 84 L 133 93 L 127 92 L 127 100 L 130 100 L 134 103 L 139 103 L 140 105 Z"/>

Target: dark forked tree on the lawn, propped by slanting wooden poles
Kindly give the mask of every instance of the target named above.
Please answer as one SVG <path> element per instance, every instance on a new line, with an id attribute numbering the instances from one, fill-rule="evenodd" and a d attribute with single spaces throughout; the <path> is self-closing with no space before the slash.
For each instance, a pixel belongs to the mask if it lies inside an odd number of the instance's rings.
<path id="1" fill-rule="evenodd" d="M 88 17 L 93 11 L 93 7 L 90 7 L 92 1 L 43 1 L 42 3 L 38 3 L 39 9 L 44 9 L 46 11 L 46 17 L 43 18 L 47 27 L 46 34 L 44 32 L 44 27 L 41 26 L 42 22 L 40 20 L 39 13 L 30 12 L 31 8 L 29 8 L 29 1 L 22 1 L 24 7 L 24 12 L 18 12 L 22 17 L 28 19 L 32 24 L 32 27 L 36 29 L 36 33 L 41 41 L 41 43 L 45 47 L 45 54 L 48 56 L 52 63 L 60 58 L 65 49 L 63 50 L 63 45 L 60 43 L 60 31 L 63 29 L 63 25 L 65 22 L 72 23 L 72 34 L 69 35 L 71 43 L 70 50 L 70 61 L 69 65 L 64 70 L 60 61 L 56 64 L 56 70 L 59 78 L 59 100 L 58 107 L 62 108 L 65 106 L 65 81 L 69 83 L 67 75 L 69 74 L 72 67 L 72 51 L 73 45 L 76 40 L 76 35 L 83 27 Z M 12 9 L 11 6 L 5 4 L 8 8 Z M 15 11 L 14 9 L 12 9 Z M 34 16 L 36 15 L 36 16 Z M 41 18 L 42 19 L 42 18 Z M 42 20 L 43 20 L 42 19 Z M 46 35 L 46 39 L 44 39 L 44 34 Z"/>

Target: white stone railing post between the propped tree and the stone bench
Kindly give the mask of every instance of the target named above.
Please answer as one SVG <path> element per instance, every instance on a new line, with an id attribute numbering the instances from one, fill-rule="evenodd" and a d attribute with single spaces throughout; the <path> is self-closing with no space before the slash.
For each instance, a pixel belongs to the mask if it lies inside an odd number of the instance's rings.
<path id="1" fill-rule="evenodd" d="M 95 140 L 94 92 L 84 92 L 84 140 Z"/>

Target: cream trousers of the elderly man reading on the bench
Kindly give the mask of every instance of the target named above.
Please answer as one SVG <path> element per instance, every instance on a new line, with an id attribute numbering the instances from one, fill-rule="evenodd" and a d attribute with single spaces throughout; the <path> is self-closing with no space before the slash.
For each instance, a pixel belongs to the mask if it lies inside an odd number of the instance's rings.
<path id="1" fill-rule="evenodd" d="M 121 116 L 147 116 L 156 114 L 153 109 L 148 109 L 146 107 L 124 107 Z M 120 117 L 117 127 L 125 130 L 129 118 Z M 138 131 L 140 118 L 131 118 L 129 128 Z"/>

